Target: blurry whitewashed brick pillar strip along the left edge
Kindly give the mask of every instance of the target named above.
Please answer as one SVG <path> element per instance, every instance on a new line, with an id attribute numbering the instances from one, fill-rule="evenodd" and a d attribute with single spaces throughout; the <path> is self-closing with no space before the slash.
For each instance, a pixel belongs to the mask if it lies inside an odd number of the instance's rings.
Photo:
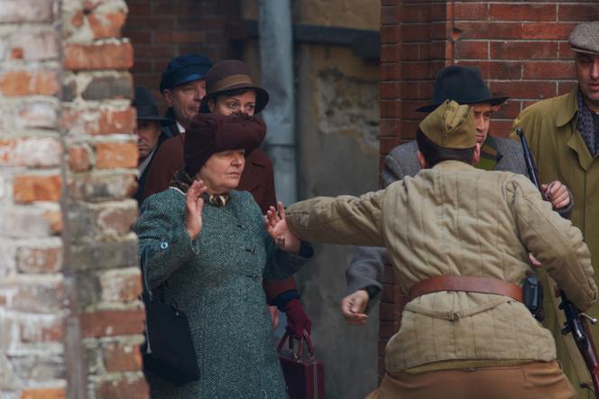
<path id="1" fill-rule="evenodd" d="M 66 394 L 54 7 L 0 5 L 0 395 L 7 397 Z"/>

